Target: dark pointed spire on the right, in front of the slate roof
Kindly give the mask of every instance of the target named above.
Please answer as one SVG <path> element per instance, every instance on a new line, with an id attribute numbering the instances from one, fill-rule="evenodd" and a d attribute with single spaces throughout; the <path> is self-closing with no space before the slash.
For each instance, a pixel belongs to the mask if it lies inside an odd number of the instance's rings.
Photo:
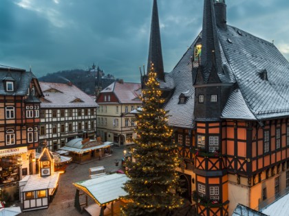
<path id="1" fill-rule="evenodd" d="M 202 56 L 201 65 L 203 67 L 204 82 L 208 82 L 208 77 L 215 66 L 217 72 L 220 64 L 220 45 L 217 38 L 217 25 L 213 0 L 204 0 L 204 16 L 202 29 Z"/>

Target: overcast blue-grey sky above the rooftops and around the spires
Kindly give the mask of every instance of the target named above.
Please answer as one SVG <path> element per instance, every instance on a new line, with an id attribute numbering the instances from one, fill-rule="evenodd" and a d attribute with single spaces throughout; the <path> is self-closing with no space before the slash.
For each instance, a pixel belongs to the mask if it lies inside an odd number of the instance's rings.
<path id="1" fill-rule="evenodd" d="M 147 64 L 153 0 L 0 0 L 0 64 L 37 77 L 95 62 L 139 82 Z M 227 21 L 275 40 L 289 59 L 288 0 L 226 0 Z M 170 72 L 202 28 L 203 0 L 158 0 L 164 70 Z"/>

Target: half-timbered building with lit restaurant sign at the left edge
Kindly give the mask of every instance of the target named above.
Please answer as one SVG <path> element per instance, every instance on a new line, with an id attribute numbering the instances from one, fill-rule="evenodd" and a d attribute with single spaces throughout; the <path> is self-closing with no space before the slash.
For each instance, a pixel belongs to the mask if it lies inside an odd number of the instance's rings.
<path id="1" fill-rule="evenodd" d="M 42 95 L 31 71 L 0 67 L 0 185 L 12 195 L 7 187 L 36 172 Z"/>

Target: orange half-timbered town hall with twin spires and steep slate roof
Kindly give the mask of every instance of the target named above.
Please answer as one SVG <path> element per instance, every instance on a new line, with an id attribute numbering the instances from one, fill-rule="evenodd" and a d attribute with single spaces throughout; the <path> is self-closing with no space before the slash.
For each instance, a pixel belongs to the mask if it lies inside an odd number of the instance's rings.
<path id="1" fill-rule="evenodd" d="M 228 25 L 224 0 L 204 0 L 202 32 L 171 73 L 160 63 L 156 0 L 150 40 L 148 65 L 155 65 L 184 158 L 182 195 L 198 215 L 232 215 L 238 203 L 259 210 L 283 194 L 289 63 L 275 45 Z"/>

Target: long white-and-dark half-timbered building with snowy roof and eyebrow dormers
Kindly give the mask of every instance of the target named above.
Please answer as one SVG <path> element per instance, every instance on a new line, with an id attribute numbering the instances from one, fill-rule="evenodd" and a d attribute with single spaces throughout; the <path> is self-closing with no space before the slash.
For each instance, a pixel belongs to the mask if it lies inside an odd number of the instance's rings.
<path id="1" fill-rule="evenodd" d="M 96 139 L 96 108 L 92 97 L 71 83 L 40 82 L 41 97 L 39 139 L 51 151 L 81 137 Z"/>

